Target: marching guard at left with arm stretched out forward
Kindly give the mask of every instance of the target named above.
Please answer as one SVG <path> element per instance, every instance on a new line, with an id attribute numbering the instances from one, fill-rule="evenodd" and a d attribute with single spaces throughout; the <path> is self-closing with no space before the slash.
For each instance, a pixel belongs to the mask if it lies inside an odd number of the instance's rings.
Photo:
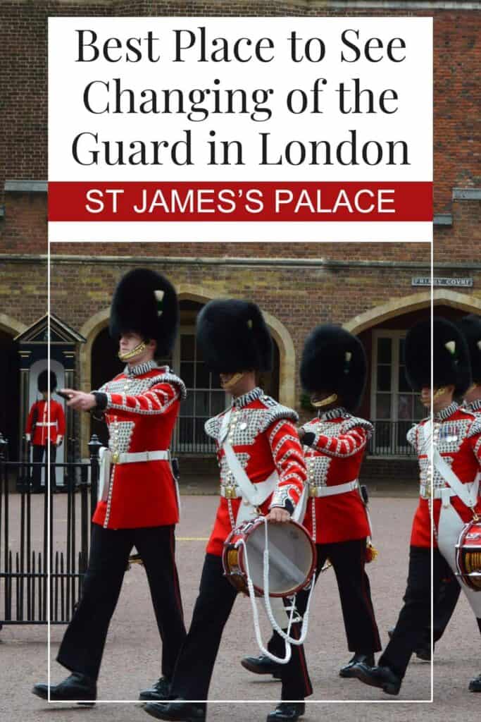
<path id="1" fill-rule="evenodd" d="M 131 549 L 146 568 L 162 638 L 162 677 L 141 699 L 167 693 L 185 639 L 175 565 L 177 490 L 169 444 L 185 399 L 182 380 L 158 366 L 175 342 L 178 304 L 174 287 L 160 274 L 135 269 L 120 280 L 112 300 L 110 335 L 119 340 L 123 373 L 99 391 L 63 389 L 74 409 L 105 414 L 109 449 L 102 455 L 100 498 L 92 523 L 89 565 L 81 599 L 63 637 L 57 660 L 72 674 L 33 692 L 50 700 L 94 700 L 110 619 Z"/>

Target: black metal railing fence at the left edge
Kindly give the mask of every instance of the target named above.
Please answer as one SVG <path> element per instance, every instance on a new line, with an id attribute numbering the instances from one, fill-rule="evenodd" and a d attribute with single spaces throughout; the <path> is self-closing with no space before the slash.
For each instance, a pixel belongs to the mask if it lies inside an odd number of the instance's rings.
<path id="1" fill-rule="evenodd" d="M 46 459 L 10 461 L 0 434 L 0 627 L 69 622 L 87 570 L 99 448 L 93 435 L 89 463 L 54 465 L 63 469 L 65 493 L 49 495 L 45 484 L 34 494 L 33 468 L 43 466 L 47 479 Z"/>

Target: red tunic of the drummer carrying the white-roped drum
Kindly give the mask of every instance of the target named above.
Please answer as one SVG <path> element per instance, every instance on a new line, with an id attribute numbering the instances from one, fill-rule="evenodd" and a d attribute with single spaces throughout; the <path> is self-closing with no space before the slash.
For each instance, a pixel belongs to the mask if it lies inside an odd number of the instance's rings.
<path id="1" fill-rule="evenodd" d="M 221 487 L 234 484 L 221 448 L 220 434 L 223 412 L 206 422 L 206 433 L 217 443 L 217 458 L 221 471 Z M 252 484 L 262 487 L 273 471 L 278 472 L 278 482 L 273 494 L 261 505 L 262 514 L 272 506 L 283 506 L 290 500 L 293 506 L 301 497 L 306 481 L 306 465 L 302 454 L 299 435 L 293 422 L 298 420 L 296 412 L 281 406 L 265 396 L 261 388 L 255 388 L 234 399 L 231 407 L 229 443 Z M 229 536 L 233 521 L 237 517 L 240 498 L 221 497 L 211 537 L 206 551 L 221 556 L 224 541 Z"/>

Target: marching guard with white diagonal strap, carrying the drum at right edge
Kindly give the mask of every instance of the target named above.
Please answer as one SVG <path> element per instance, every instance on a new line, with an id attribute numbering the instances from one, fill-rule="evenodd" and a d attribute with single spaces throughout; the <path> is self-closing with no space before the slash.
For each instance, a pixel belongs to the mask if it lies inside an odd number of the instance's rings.
<path id="1" fill-rule="evenodd" d="M 407 334 L 406 373 L 410 386 L 421 391 L 431 407 L 431 321 L 416 324 Z M 405 604 L 379 666 L 359 663 L 356 677 L 389 695 L 397 695 L 410 656 L 431 616 L 431 520 L 433 523 L 433 596 L 438 596 L 446 562 L 456 572 L 455 546 L 472 509 L 481 512 L 477 475 L 481 469 L 481 417 L 453 400 L 471 383 L 467 344 L 453 323 L 433 322 L 433 419 L 415 425 L 407 440 L 418 454 L 420 500 L 412 524 Z M 433 453 L 432 453 L 433 451 Z M 463 499 L 461 498 L 463 497 Z M 467 503 L 465 503 L 467 502 Z M 481 594 L 462 586 L 481 632 Z"/>

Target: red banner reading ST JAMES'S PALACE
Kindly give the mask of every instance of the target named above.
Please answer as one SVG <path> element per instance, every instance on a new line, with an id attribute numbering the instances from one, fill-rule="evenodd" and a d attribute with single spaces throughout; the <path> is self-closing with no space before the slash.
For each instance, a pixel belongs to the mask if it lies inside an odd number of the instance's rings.
<path id="1" fill-rule="evenodd" d="M 48 220 L 433 220 L 433 183 L 48 183 Z"/>

